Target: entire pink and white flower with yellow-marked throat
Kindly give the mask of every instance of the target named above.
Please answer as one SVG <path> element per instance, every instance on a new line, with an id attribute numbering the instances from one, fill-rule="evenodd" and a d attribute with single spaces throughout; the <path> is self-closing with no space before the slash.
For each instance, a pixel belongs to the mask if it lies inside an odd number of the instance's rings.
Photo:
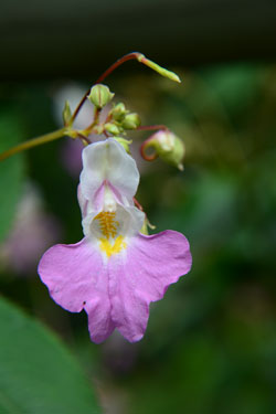
<path id="1" fill-rule="evenodd" d="M 130 342 L 140 340 L 149 304 L 191 268 L 181 233 L 139 233 L 145 214 L 132 201 L 138 183 L 135 160 L 115 139 L 88 145 L 78 185 L 84 238 L 51 247 L 39 264 L 59 305 L 72 312 L 85 309 L 96 343 L 115 328 Z"/>

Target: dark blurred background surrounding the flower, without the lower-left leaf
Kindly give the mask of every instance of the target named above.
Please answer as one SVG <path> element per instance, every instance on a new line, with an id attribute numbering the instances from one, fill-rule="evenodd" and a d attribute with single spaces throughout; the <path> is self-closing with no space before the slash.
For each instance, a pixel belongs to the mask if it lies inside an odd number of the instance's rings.
<path id="1" fill-rule="evenodd" d="M 103 413 L 275 413 L 275 1 L 2 0 L 0 11 L 1 151 L 61 127 L 65 99 L 74 107 L 125 53 L 180 75 L 178 85 L 128 62 L 106 84 L 144 125 L 183 139 L 180 172 L 142 161 L 148 135 L 129 135 L 138 200 L 158 232 L 184 233 L 193 254 L 190 274 L 151 305 L 140 342 L 115 333 L 92 343 L 86 315 L 55 305 L 36 274 L 47 247 L 82 237 L 81 148 L 64 138 L 0 164 L 1 296 L 61 338 Z"/>

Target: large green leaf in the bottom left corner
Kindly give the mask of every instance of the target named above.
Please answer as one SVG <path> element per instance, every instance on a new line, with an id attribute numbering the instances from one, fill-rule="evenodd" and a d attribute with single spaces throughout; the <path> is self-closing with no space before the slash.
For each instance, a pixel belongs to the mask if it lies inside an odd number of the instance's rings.
<path id="1" fill-rule="evenodd" d="M 42 325 L 0 298 L 0 413 L 96 414 L 92 384 Z"/>

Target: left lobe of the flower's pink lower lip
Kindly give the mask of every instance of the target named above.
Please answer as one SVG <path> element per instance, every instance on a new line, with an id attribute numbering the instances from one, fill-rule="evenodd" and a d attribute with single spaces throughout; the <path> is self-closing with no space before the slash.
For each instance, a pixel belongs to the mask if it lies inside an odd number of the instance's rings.
<path id="1" fill-rule="evenodd" d="M 104 341 L 113 332 L 107 267 L 86 238 L 51 247 L 40 261 L 39 274 L 52 298 L 64 309 L 86 310 L 94 342 Z"/>

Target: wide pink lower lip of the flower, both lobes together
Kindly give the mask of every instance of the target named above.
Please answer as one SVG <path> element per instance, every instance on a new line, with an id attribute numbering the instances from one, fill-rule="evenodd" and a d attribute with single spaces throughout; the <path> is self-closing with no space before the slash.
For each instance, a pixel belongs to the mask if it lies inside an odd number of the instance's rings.
<path id="1" fill-rule="evenodd" d="M 91 338 L 99 343 L 117 328 L 130 342 L 145 333 L 149 304 L 191 268 L 187 238 L 173 231 L 134 237 L 106 263 L 86 238 L 55 245 L 39 273 L 52 298 L 66 310 L 88 315 Z"/>

